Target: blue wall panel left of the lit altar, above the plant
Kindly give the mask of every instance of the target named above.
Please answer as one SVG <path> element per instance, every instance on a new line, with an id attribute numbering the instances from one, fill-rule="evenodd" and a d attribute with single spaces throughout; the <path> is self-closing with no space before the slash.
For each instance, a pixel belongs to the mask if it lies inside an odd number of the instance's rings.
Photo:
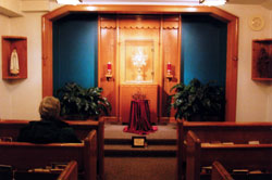
<path id="1" fill-rule="evenodd" d="M 97 86 L 97 15 L 74 14 L 53 23 L 53 90 L 65 82 Z"/>

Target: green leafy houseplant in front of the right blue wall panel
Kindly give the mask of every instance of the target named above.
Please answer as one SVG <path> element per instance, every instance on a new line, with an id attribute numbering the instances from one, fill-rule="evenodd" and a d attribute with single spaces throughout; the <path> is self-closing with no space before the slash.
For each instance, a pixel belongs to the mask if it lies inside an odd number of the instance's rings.
<path id="1" fill-rule="evenodd" d="M 176 110 L 175 118 L 185 118 L 190 121 L 206 120 L 207 117 L 224 118 L 225 94 L 222 87 L 208 82 L 202 85 L 193 79 L 189 85 L 175 85 L 175 93 L 171 95 L 170 107 Z"/>

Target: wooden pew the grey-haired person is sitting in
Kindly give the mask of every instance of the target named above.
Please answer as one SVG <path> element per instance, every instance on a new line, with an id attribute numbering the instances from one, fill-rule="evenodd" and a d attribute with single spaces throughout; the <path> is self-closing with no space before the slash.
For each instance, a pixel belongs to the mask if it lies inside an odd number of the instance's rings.
<path id="1" fill-rule="evenodd" d="M 15 169 L 46 167 L 51 163 L 76 160 L 85 180 L 97 180 L 97 132 L 91 130 L 83 143 L 34 144 L 0 142 L 0 164 Z"/>

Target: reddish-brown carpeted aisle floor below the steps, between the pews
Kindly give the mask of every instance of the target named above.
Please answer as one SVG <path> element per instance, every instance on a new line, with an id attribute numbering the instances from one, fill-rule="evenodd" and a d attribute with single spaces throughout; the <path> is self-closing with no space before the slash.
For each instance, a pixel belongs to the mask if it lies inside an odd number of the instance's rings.
<path id="1" fill-rule="evenodd" d="M 104 157 L 106 180 L 175 180 L 175 157 Z"/>

